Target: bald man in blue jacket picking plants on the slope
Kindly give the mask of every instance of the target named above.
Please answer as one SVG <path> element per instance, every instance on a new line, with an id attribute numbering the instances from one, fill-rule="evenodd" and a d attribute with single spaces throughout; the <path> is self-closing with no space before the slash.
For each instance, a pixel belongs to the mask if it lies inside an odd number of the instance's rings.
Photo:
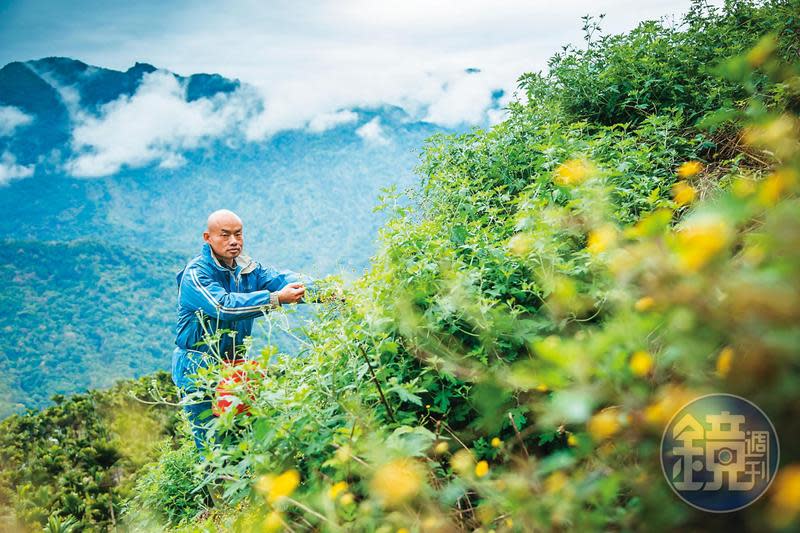
<path id="1" fill-rule="evenodd" d="M 257 317 L 283 304 L 302 302 L 306 291 L 299 274 L 288 270 L 279 273 L 244 254 L 242 221 L 227 209 L 211 213 L 203 240 L 200 255 L 177 276 L 177 347 L 172 354 L 172 380 L 184 393 L 198 390 L 194 381 L 198 368 L 244 357 L 244 340 Z M 217 330 L 232 333 L 222 335 L 219 342 L 206 342 Z M 195 444 L 202 449 L 211 400 L 206 397 L 185 404 L 184 409 Z"/>

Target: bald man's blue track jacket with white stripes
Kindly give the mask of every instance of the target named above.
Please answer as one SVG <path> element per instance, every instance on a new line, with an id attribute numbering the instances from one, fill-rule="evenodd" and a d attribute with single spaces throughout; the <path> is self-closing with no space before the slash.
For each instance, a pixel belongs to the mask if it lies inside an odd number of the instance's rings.
<path id="1" fill-rule="evenodd" d="M 172 354 L 172 380 L 187 391 L 194 389 L 190 376 L 199 366 L 213 361 L 214 355 L 224 359 L 242 357 L 253 321 L 280 306 L 277 291 L 296 281 L 313 290 L 313 282 L 307 276 L 263 267 L 244 253 L 236 258 L 235 268 L 230 268 L 214 256 L 208 243 L 178 272 L 177 281 L 177 346 Z M 208 346 L 202 343 L 204 329 L 209 334 L 217 329 L 233 330 L 235 337 L 223 335 L 219 345 Z"/>

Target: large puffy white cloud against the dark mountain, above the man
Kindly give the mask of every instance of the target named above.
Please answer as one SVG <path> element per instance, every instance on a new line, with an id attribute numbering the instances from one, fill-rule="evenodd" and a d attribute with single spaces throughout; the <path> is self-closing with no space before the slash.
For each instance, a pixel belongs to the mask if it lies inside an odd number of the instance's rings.
<path id="1" fill-rule="evenodd" d="M 77 155 L 67 169 L 74 176 L 98 177 L 124 166 L 176 168 L 185 162 L 183 152 L 235 133 L 257 105 L 247 89 L 187 102 L 186 88 L 175 76 L 147 74 L 136 93 L 106 104 L 98 117 L 76 117 Z"/>

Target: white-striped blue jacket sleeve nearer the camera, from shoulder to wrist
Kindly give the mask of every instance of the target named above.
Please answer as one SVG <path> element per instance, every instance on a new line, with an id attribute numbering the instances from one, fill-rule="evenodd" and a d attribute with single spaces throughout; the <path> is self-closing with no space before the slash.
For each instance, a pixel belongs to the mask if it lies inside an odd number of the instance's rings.
<path id="1" fill-rule="evenodd" d="M 220 320 L 255 318 L 277 307 L 277 294 L 269 290 L 228 292 L 202 269 L 188 269 L 181 282 L 181 305 Z"/>

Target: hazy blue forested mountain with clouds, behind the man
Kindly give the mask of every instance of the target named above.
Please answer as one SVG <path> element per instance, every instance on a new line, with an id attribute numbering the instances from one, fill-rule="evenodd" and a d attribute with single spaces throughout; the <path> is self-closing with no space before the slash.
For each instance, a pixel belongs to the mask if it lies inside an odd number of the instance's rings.
<path id="1" fill-rule="evenodd" d="M 382 189 L 410 186 L 424 140 L 446 131 L 382 106 L 251 138 L 254 94 L 145 63 L 0 69 L 0 111 L 22 117 L 0 124 L 0 416 L 168 369 L 174 275 L 215 209 L 240 214 L 265 264 L 355 277 L 385 220 Z"/>

